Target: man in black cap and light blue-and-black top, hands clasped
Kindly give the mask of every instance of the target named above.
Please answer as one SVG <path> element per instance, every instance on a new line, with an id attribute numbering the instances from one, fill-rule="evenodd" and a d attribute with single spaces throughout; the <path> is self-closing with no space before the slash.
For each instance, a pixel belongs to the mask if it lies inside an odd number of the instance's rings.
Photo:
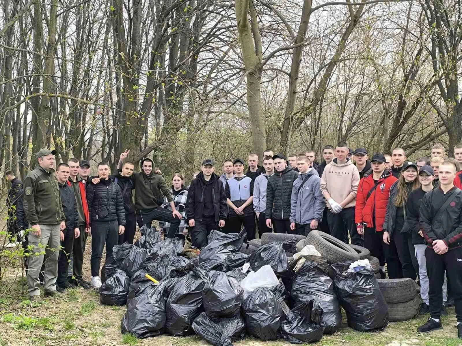
<path id="1" fill-rule="evenodd" d="M 225 185 L 226 204 L 228 204 L 228 221 L 226 233 L 241 232 L 242 224 L 247 232 L 247 239 L 255 239 L 255 216 L 252 204 L 254 197 L 254 180 L 243 174 L 244 162 L 233 161 L 235 175 Z"/>

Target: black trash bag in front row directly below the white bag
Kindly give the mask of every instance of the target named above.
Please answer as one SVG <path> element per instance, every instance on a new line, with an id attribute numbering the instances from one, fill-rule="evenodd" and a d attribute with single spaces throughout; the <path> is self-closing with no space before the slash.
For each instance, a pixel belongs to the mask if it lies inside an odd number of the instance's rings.
<path id="1" fill-rule="evenodd" d="M 267 288 L 258 287 L 242 304 L 247 332 L 261 340 L 280 338 L 281 323 L 285 318 L 278 298 Z"/>

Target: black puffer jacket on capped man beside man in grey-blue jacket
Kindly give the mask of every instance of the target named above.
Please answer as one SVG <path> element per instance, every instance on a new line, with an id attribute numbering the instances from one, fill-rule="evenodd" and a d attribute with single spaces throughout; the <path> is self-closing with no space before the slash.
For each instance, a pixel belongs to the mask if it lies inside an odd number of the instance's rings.
<path id="1" fill-rule="evenodd" d="M 286 167 L 282 172 L 274 171 L 269 177 L 266 188 L 267 219 L 289 220 L 292 185 L 297 177 L 298 173 L 292 167 Z"/>

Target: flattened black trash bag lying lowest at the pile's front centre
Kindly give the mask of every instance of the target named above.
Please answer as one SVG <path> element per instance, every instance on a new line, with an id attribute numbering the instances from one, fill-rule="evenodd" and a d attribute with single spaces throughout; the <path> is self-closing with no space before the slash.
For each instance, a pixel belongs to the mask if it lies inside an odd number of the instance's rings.
<path id="1" fill-rule="evenodd" d="M 245 337 L 245 324 L 240 315 L 213 322 L 202 312 L 194 320 L 193 329 L 197 335 L 214 346 L 232 346 L 233 341 L 243 340 Z"/>

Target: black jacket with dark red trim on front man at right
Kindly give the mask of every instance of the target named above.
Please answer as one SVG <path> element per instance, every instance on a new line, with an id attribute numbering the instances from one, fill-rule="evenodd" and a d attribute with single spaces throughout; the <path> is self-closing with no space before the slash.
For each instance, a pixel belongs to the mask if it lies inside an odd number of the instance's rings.
<path id="1" fill-rule="evenodd" d="M 437 216 L 438 209 L 444 200 L 455 194 L 454 200 Z M 433 189 L 425 194 L 420 205 L 420 228 L 432 246 L 434 240 L 442 239 L 450 249 L 462 245 L 462 191 L 454 186 L 444 194 L 441 188 Z"/>

